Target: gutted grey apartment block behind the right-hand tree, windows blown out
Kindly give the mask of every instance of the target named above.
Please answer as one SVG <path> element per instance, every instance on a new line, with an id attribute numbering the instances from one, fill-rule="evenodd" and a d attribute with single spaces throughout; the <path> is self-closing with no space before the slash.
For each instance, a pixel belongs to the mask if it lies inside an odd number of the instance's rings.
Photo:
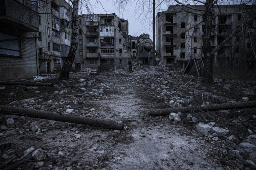
<path id="1" fill-rule="evenodd" d="M 199 5 L 192 6 L 187 4 L 187 6 L 204 9 L 204 6 Z M 245 6 L 244 8 L 248 10 L 250 6 Z M 235 12 L 236 9 L 238 9 L 238 5 L 219 5 L 214 7 L 215 14 L 220 13 L 220 10 L 222 14 L 226 15 L 218 15 L 212 22 L 212 48 L 224 41 L 232 33 L 232 30 L 242 26 L 243 17 L 241 13 Z M 202 20 L 201 15 L 195 11 L 191 12 L 191 9 L 181 5 L 171 5 L 167 11 L 158 12 L 156 17 L 156 51 L 160 53 L 161 64 L 175 63 L 184 67 L 190 60 L 195 59 L 197 59 L 196 62 L 203 64 L 202 37 L 204 22 Z M 234 56 L 239 58 L 238 56 L 241 55 L 239 52 L 248 50 L 251 47 L 248 36 L 247 33 L 244 32 L 243 34 L 240 31 L 217 51 L 215 53 L 215 66 L 220 66 L 227 60 L 234 59 Z"/>

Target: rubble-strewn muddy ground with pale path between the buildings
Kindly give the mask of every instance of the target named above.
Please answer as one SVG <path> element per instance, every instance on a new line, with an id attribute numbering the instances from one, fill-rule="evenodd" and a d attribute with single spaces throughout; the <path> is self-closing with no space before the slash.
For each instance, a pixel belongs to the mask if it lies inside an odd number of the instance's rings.
<path id="1" fill-rule="evenodd" d="M 68 81 L 53 75 L 42 82 L 54 87 L 2 86 L 1 105 L 109 118 L 122 121 L 124 127 L 115 130 L 1 114 L 0 169 L 255 168 L 243 153 L 233 154 L 256 132 L 255 108 L 190 113 L 193 121 L 182 114 L 179 122 L 149 115 L 157 108 L 239 102 L 243 97 L 256 100 L 254 80 L 218 77 L 212 86 L 203 86 L 200 77 L 159 67 L 155 76 L 144 68 L 133 73 L 72 73 Z M 197 131 L 199 122 L 214 122 L 229 134 L 216 140 Z M 23 156 L 31 147 L 41 149 Z"/>

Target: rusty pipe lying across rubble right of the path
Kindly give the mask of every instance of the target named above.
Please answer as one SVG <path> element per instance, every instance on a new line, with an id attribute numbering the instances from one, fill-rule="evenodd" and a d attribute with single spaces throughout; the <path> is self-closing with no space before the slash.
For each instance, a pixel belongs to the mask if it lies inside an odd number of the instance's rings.
<path id="1" fill-rule="evenodd" d="M 177 113 L 178 111 L 182 113 L 188 113 L 191 111 L 218 111 L 218 110 L 229 110 L 229 109 L 243 109 L 256 107 L 256 101 L 250 102 L 234 102 L 234 103 L 222 103 L 214 105 L 201 105 L 201 106 L 189 106 L 189 107 L 174 107 L 167 109 L 155 109 L 150 110 L 150 115 L 161 116 L 169 115 L 170 113 Z"/>

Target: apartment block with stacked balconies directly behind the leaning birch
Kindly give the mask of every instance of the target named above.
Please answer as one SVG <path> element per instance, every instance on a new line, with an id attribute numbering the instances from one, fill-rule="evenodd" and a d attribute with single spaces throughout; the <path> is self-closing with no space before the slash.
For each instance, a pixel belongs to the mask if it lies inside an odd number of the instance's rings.
<path id="1" fill-rule="evenodd" d="M 38 1 L 38 13 L 39 72 L 51 73 L 60 70 L 69 51 L 72 7 L 65 0 Z"/>

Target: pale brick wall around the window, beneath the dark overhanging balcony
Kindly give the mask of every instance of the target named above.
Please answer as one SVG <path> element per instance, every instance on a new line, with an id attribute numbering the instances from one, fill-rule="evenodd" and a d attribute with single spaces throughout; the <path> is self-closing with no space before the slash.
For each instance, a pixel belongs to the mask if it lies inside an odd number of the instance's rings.
<path id="1" fill-rule="evenodd" d="M 35 33 L 23 33 L 22 37 L 36 36 Z M 38 58 L 35 39 L 20 40 L 21 57 L 0 56 L 0 80 L 32 77 L 37 75 Z"/>

